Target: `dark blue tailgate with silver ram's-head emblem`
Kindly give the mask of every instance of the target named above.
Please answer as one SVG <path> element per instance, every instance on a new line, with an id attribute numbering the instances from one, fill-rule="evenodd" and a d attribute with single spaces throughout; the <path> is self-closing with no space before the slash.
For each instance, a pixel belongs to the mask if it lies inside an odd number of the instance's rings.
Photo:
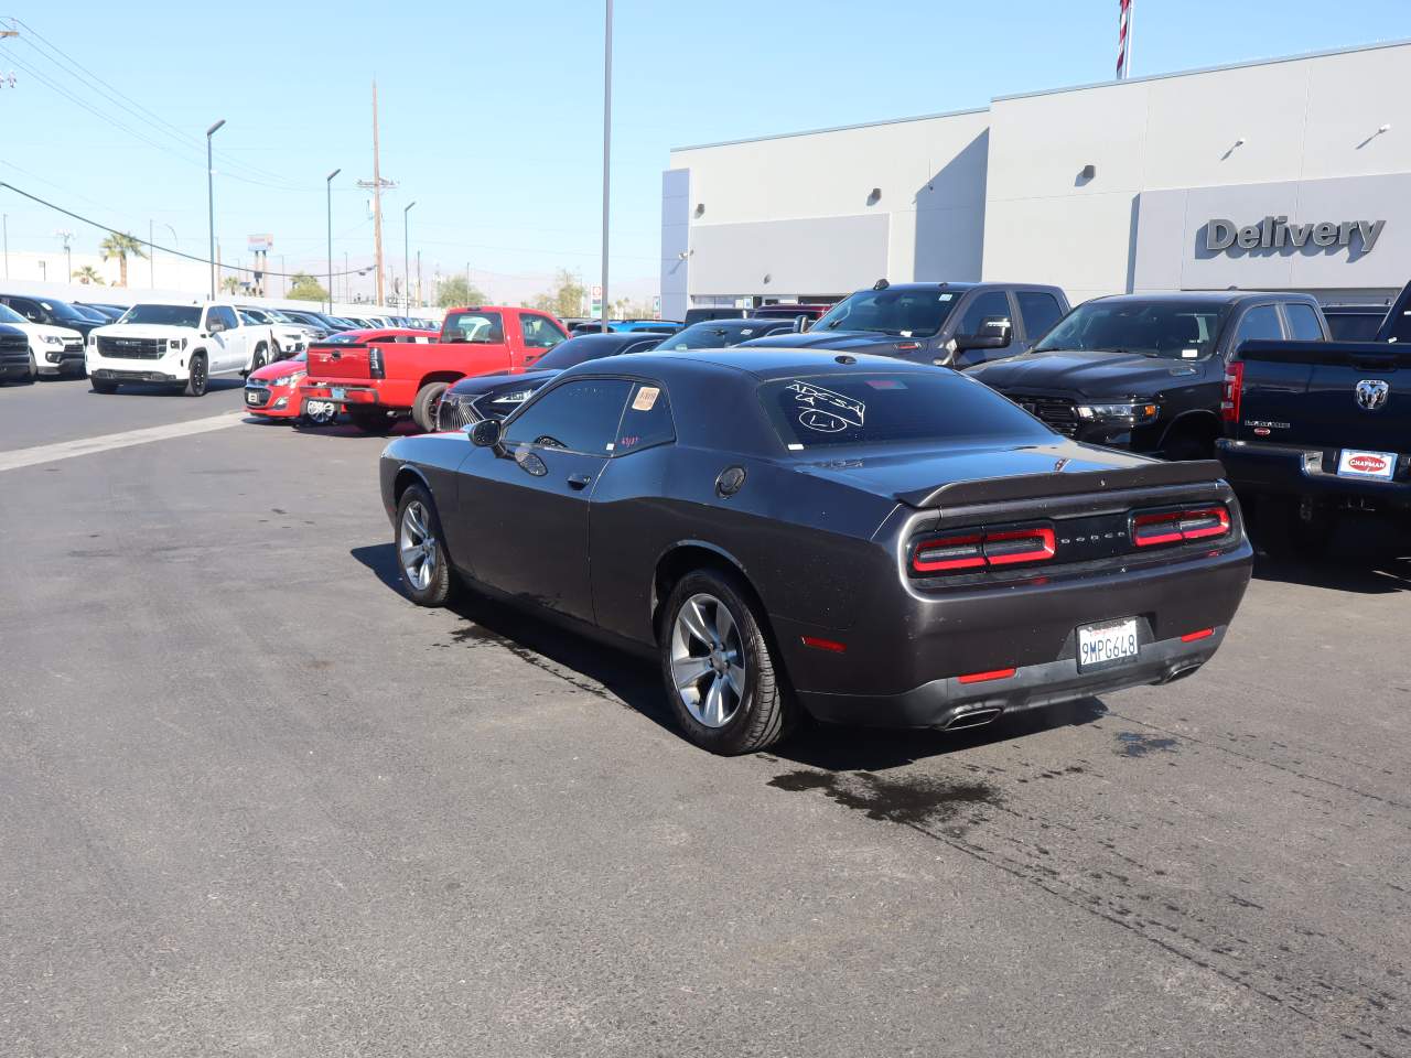
<path id="1" fill-rule="evenodd" d="M 1309 449 L 1411 449 L 1411 347 L 1246 341 L 1237 363 L 1240 439 Z"/>

